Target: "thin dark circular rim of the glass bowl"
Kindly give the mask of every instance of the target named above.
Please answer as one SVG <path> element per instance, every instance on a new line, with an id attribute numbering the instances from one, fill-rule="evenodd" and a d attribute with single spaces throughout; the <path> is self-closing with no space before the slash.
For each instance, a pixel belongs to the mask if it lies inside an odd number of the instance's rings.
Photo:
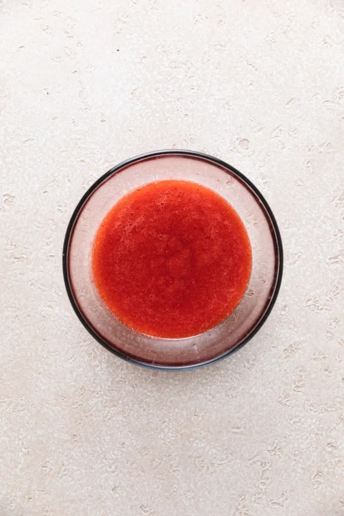
<path id="1" fill-rule="evenodd" d="M 80 310 L 79 310 L 79 308 L 78 308 L 78 306 L 77 306 L 77 304 L 75 302 L 75 299 L 74 299 L 74 296 L 73 296 L 73 293 L 72 293 L 72 287 L 71 287 L 71 284 L 70 284 L 70 281 L 69 281 L 69 275 L 68 275 L 68 250 L 69 250 L 69 244 L 70 244 L 70 240 L 71 240 L 71 235 L 72 235 L 72 232 L 73 232 L 76 220 L 78 218 L 78 215 L 81 212 L 81 209 L 83 208 L 83 206 L 86 203 L 86 201 L 92 195 L 93 191 L 101 183 L 103 183 L 110 175 L 118 173 L 124 167 L 132 165 L 132 164 L 134 164 L 136 162 L 139 162 L 139 161 L 141 161 L 143 159 L 154 158 L 154 157 L 159 157 L 159 156 L 164 156 L 164 155 L 177 155 L 177 156 L 178 155 L 179 156 L 186 155 L 186 156 L 191 156 L 191 157 L 194 157 L 194 158 L 203 159 L 203 160 L 206 160 L 208 162 L 214 163 L 214 164 L 220 166 L 221 168 L 225 169 L 226 171 L 230 171 L 230 172 L 234 173 L 235 175 L 237 175 L 238 178 L 241 179 L 241 181 L 243 181 L 245 184 L 247 184 L 254 191 L 254 193 L 258 197 L 259 201 L 261 202 L 261 204 L 263 204 L 264 208 L 266 209 L 266 211 L 267 211 L 267 213 L 268 213 L 268 215 L 270 217 L 270 220 L 271 220 L 271 223 L 272 223 L 272 227 L 273 227 L 273 230 L 274 230 L 274 233 L 275 233 L 275 236 L 276 236 L 276 243 L 277 243 L 277 249 L 278 249 L 278 256 L 276 256 L 276 263 L 278 263 L 278 265 L 279 265 L 279 271 L 278 271 L 278 274 L 277 274 L 276 283 L 275 283 L 275 289 L 274 289 L 273 295 L 271 296 L 271 298 L 269 300 L 269 305 L 268 305 L 268 307 L 267 307 L 263 317 L 260 319 L 258 324 L 250 331 L 250 333 L 248 335 L 246 335 L 242 339 L 242 341 L 240 341 L 234 348 L 226 351 L 225 353 L 221 354 L 218 357 L 212 358 L 212 359 L 207 360 L 205 362 L 196 363 L 196 364 L 167 365 L 167 366 L 164 366 L 162 364 L 145 363 L 145 362 L 141 362 L 140 360 L 137 360 L 137 359 L 135 359 L 135 358 L 133 358 L 131 356 L 128 356 L 124 352 L 120 352 L 117 349 L 113 349 L 111 346 L 109 346 L 101 338 L 100 335 L 98 335 L 97 333 L 95 333 L 95 331 L 93 331 L 92 327 L 88 324 L 88 321 L 84 318 L 83 314 L 81 314 L 81 312 L 80 312 Z M 276 254 L 277 253 L 275 253 L 275 255 Z M 92 337 L 99 344 L 104 346 L 108 351 L 111 351 L 112 353 L 116 354 L 119 358 L 121 358 L 121 359 L 123 359 L 123 360 L 125 360 L 127 362 L 130 362 L 132 364 L 139 365 L 141 367 L 145 367 L 145 368 L 148 368 L 148 369 L 154 369 L 154 370 L 158 369 L 158 370 L 163 370 L 163 371 L 169 371 L 169 370 L 170 371 L 191 370 L 191 369 L 198 369 L 198 368 L 206 366 L 206 365 L 214 364 L 214 363 L 218 362 L 219 360 L 223 360 L 224 358 L 228 357 L 230 354 L 234 353 L 235 351 L 240 349 L 242 346 L 247 344 L 251 340 L 251 338 L 264 325 L 265 321 L 267 320 L 267 318 L 270 315 L 270 312 L 271 312 L 271 310 L 272 310 L 272 308 L 273 308 L 273 306 L 275 304 L 275 301 L 277 299 L 277 296 L 279 295 L 280 288 L 281 288 L 281 282 L 282 282 L 282 276 L 283 276 L 283 245 L 282 245 L 282 238 L 281 238 L 279 227 L 277 225 L 276 219 L 275 219 L 275 217 L 274 217 L 274 215 L 272 213 L 272 210 L 271 210 L 268 202 L 266 201 L 264 196 L 260 193 L 258 188 L 244 174 L 242 174 L 241 172 L 239 172 L 239 170 L 237 170 L 234 167 L 232 167 L 232 165 L 228 165 L 228 163 L 224 162 L 222 159 L 219 159 L 217 157 L 211 156 L 209 154 L 205 154 L 203 152 L 191 151 L 191 150 L 183 150 L 183 149 L 165 149 L 165 150 L 145 152 L 143 154 L 139 154 L 137 156 L 134 156 L 132 158 L 124 160 L 123 162 L 119 163 L 118 165 L 115 165 L 110 170 L 105 172 L 105 174 L 103 174 L 99 179 L 97 179 L 92 184 L 92 186 L 90 186 L 90 188 L 88 188 L 86 193 L 84 193 L 83 197 L 81 197 L 80 201 L 77 203 L 77 205 L 76 205 L 76 207 L 75 207 L 75 209 L 73 211 L 73 214 L 71 216 L 71 219 L 69 221 L 69 224 L 68 224 L 68 227 L 67 227 L 67 231 L 65 232 L 64 242 L 63 242 L 63 250 L 62 250 L 62 270 L 63 270 L 64 285 L 65 285 L 65 288 L 67 290 L 67 294 L 68 294 L 70 303 L 71 303 L 71 305 L 73 307 L 73 310 L 74 310 L 75 314 L 77 315 L 77 317 L 80 320 L 81 324 L 83 324 L 83 326 L 86 328 L 86 330 L 92 335 Z"/>

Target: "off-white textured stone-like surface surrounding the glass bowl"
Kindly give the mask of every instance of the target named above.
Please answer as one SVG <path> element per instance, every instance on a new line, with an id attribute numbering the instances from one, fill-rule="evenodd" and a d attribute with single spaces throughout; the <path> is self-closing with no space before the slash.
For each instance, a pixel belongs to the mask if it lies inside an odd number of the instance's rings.
<path id="1" fill-rule="evenodd" d="M 344 514 L 342 0 L 1 0 L 0 24 L 1 515 Z M 94 342 L 61 273 L 86 188 L 169 147 L 247 174 L 285 248 L 264 328 L 180 374 Z"/>

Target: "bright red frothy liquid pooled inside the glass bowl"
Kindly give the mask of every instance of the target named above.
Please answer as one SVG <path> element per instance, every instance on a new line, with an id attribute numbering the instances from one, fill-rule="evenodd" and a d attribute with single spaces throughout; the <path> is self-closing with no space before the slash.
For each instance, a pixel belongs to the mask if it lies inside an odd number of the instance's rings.
<path id="1" fill-rule="evenodd" d="M 103 219 L 93 281 L 110 312 L 147 335 L 203 333 L 233 312 L 252 266 L 249 236 L 230 204 L 188 181 L 150 183 Z"/>

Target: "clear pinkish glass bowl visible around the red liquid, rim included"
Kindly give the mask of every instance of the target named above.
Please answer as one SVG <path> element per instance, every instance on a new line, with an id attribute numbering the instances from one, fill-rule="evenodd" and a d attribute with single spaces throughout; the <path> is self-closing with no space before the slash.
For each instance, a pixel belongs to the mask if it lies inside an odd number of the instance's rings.
<path id="1" fill-rule="evenodd" d="M 187 338 L 151 337 L 128 328 L 107 310 L 92 283 L 92 243 L 105 215 L 126 193 L 166 179 L 193 181 L 219 193 L 236 209 L 252 246 L 251 278 L 237 308 L 215 328 Z M 62 261 L 72 307 L 99 343 L 135 364 L 190 369 L 226 357 L 263 326 L 279 293 L 283 249 L 268 203 L 244 175 L 206 154 L 167 150 L 128 159 L 89 188 L 68 225 Z"/>

